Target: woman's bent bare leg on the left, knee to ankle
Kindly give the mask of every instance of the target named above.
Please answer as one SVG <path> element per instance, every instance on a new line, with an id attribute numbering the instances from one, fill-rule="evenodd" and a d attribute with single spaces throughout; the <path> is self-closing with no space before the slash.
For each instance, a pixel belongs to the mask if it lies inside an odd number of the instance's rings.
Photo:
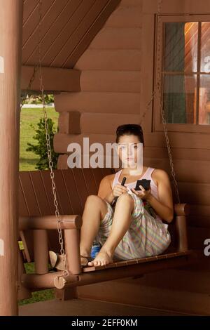
<path id="1" fill-rule="evenodd" d="M 82 256 L 90 256 L 92 243 L 99 231 L 100 221 L 107 211 L 104 199 L 94 194 L 87 197 L 83 211 L 83 225 L 80 229 L 80 254 Z"/>

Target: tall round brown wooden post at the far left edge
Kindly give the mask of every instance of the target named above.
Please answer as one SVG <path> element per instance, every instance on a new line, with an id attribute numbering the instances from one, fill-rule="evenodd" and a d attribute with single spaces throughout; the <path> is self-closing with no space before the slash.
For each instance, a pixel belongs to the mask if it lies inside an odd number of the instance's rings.
<path id="1" fill-rule="evenodd" d="M 0 315 L 18 315 L 22 0 L 0 0 Z"/>

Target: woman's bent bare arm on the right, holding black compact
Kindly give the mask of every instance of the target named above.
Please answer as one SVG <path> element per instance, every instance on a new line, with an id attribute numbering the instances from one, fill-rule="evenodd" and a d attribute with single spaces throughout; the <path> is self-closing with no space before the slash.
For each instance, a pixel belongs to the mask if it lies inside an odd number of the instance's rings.
<path id="1" fill-rule="evenodd" d="M 167 223 L 171 223 L 174 218 L 174 205 L 172 197 L 172 187 L 167 172 L 155 170 L 155 180 L 158 181 L 158 197 L 148 194 L 146 200 L 151 204 L 158 216 Z"/>

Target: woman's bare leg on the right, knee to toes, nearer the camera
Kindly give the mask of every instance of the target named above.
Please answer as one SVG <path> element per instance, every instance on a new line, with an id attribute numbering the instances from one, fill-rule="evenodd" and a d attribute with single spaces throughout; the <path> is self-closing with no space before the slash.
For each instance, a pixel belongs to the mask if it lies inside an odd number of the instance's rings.
<path id="1" fill-rule="evenodd" d="M 88 265 L 106 265 L 112 262 L 113 253 L 130 227 L 131 214 L 134 210 L 134 199 L 130 194 L 122 194 L 116 203 L 113 223 L 108 239 L 97 256 Z"/>

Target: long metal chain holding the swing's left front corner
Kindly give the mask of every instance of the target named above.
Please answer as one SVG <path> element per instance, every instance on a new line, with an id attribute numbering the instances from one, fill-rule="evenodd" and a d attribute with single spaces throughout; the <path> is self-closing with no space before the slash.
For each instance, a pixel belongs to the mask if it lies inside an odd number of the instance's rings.
<path id="1" fill-rule="evenodd" d="M 64 263 L 64 271 L 63 275 L 68 276 L 69 271 L 67 270 L 67 265 L 66 265 L 66 253 L 64 250 L 64 239 L 62 237 L 62 229 L 61 229 L 61 220 L 59 216 L 59 209 L 58 209 L 58 202 L 57 202 L 57 194 L 56 194 L 56 185 L 55 185 L 55 173 L 53 172 L 52 169 L 52 152 L 51 152 L 51 147 L 50 147 L 50 134 L 49 134 L 49 129 L 48 129 L 48 114 L 46 111 L 45 107 L 45 95 L 44 95 L 44 87 L 43 87 L 43 75 L 42 75 L 42 67 L 41 67 L 41 20 L 42 20 L 42 14 L 41 14 L 41 9 L 42 9 L 42 0 L 38 1 L 38 15 L 39 15 L 39 20 L 38 20 L 38 79 L 40 81 L 40 91 L 41 91 L 41 100 L 43 104 L 43 115 L 45 119 L 45 136 L 46 136 L 46 145 L 48 148 L 48 161 L 49 161 L 49 168 L 50 168 L 50 178 L 52 182 L 52 194 L 54 198 L 54 205 L 55 205 L 55 216 L 57 220 L 57 232 L 58 232 L 58 237 L 59 237 L 59 244 L 60 244 L 60 254 L 62 255 L 63 263 Z"/>

